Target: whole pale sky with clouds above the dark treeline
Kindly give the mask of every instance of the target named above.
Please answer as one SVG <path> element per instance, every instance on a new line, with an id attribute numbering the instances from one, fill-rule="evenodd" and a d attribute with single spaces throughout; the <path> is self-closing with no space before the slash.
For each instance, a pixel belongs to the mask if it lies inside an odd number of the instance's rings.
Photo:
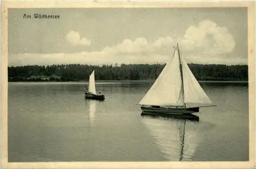
<path id="1" fill-rule="evenodd" d="M 8 10 L 8 66 L 162 64 L 177 43 L 187 63 L 247 64 L 247 8 Z"/>

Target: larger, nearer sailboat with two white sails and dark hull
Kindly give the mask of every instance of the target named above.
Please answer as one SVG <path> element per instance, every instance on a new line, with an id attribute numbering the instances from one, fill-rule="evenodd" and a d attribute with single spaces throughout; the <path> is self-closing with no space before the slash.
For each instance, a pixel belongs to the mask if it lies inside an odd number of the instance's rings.
<path id="1" fill-rule="evenodd" d="M 212 105 L 180 55 L 178 43 L 174 49 L 173 57 L 169 59 L 154 84 L 138 103 L 142 112 L 191 114 L 199 112 L 200 107 L 217 106 Z M 189 104 L 193 105 L 189 106 Z"/>

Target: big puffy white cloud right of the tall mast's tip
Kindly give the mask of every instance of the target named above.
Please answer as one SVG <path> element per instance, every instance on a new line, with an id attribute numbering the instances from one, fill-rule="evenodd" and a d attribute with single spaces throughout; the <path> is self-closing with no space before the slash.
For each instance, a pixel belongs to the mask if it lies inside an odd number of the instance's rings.
<path id="1" fill-rule="evenodd" d="M 204 54 L 223 54 L 231 52 L 234 40 L 226 27 L 217 27 L 215 22 L 204 20 L 198 27 L 190 26 L 181 40 L 188 51 L 200 50 Z"/>

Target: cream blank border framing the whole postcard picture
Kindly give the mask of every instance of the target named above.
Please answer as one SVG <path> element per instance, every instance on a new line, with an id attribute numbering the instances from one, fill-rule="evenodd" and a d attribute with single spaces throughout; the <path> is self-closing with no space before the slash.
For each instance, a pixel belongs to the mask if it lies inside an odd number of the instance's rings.
<path id="1" fill-rule="evenodd" d="M 248 162 L 8 162 L 8 8 L 248 8 L 249 71 L 249 161 Z M 254 168 L 255 167 L 255 2 L 254 1 L 183 1 L 183 2 L 81 2 L 2 1 L 1 41 L 1 167 L 2 168 Z"/>

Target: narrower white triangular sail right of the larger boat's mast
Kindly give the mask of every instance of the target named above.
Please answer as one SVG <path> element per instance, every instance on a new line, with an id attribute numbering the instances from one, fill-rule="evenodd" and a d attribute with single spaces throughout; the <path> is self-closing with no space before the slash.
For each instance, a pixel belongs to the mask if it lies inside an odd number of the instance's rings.
<path id="1" fill-rule="evenodd" d="M 185 103 L 202 103 L 211 104 L 210 99 L 198 83 L 197 79 L 189 69 L 187 63 L 182 56 L 182 72 L 184 84 L 184 100 Z"/>

